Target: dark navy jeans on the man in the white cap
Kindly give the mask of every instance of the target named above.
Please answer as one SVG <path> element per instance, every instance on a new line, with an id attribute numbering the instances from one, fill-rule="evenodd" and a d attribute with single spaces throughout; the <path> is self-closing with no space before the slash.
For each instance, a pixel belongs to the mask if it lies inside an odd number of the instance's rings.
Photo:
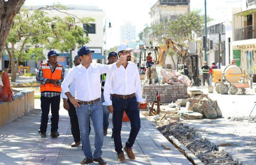
<path id="1" fill-rule="evenodd" d="M 117 97 L 111 97 L 113 111 L 113 135 L 115 143 L 115 151 L 117 154 L 123 153 L 122 141 L 121 141 L 121 128 L 122 128 L 122 117 L 123 111 L 126 112 L 127 116 L 131 121 L 131 131 L 128 141 L 125 143 L 125 147 L 132 148 L 136 140 L 136 137 L 140 130 L 140 109 L 137 106 L 136 97 L 131 99 L 121 99 Z"/>

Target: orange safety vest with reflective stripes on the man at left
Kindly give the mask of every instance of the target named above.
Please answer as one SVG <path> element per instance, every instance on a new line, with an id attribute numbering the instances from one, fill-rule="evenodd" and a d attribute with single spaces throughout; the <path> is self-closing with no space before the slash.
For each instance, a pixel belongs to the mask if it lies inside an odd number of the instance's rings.
<path id="1" fill-rule="evenodd" d="M 43 77 L 44 78 L 49 78 L 49 79 L 57 79 L 60 80 L 61 79 L 61 73 L 62 73 L 62 65 L 58 64 L 58 66 L 55 68 L 55 70 L 53 71 L 53 73 L 51 72 L 51 68 L 49 65 L 47 65 L 47 63 L 45 63 L 44 65 L 41 65 L 42 70 L 43 70 Z M 40 91 L 42 92 L 57 92 L 57 93 L 61 93 L 61 86 L 57 86 L 54 84 L 45 84 L 45 85 L 40 85 Z"/>

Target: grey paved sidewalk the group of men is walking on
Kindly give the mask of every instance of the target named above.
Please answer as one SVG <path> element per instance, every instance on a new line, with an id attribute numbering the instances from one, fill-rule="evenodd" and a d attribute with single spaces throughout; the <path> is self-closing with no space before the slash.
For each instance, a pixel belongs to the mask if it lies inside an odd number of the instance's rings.
<path id="1" fill-rule="evenodd" d="M 57 139 L 50 138 L 50 120 L 46 138 L 40 138 L 37 129 L 40 125 L 40 109 L 32 110 L 19 119 L 0 128 L 0 165 L 35 165 L 35 164 L 79 164 L 84 159 L 81 146 L 71 148 L 73 137 L 70 130 L 70 120 L 61 102 L 59 132 Z M 35 99 L 35 108 L 40 107 L 40 100 Z M 133 151 L 136 160 L 126 163 L 117 162 L 114 142 L 111 139 L 112 122 L 108 135 L 104 136 L 102 158 L 109 165 L 188 165 L 190 163 L 168 140 L 155 128 L 153 123 L 141 115 L 141 130 L 137 136 Z M 130 122 L 122 124 L 122 142 L 127 141 L 130 132 Z M 92 127 L 90 143 L 94 149 L 94 129 Z M 165 150 L 161 144 L 171 146 Z M 91 163 L 98 164 L 98 163 Z"/>

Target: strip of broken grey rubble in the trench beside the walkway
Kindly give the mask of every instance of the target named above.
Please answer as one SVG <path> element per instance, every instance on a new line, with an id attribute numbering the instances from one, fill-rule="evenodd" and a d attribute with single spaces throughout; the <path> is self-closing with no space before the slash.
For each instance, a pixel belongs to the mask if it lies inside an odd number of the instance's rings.
<path id="1" fill-rule="evenodd" d="M 145 112 L 144 115 L 149 120 L 156 123 L 157 129 L 168 139 L 168 136 L 173 135 L 178 141 L 180 141 L 188 150 L 190 150 L 198 159 L 204 164 L 208 165 L 237 165 L 236 161 L 226 155 L 223 151 L 220 152 L 209 141 L 204 138 L 198 138 L 195 131 L 184 127 L 177 120 L 168 119 L 154 119 L 156 116 L 148 116 Z"/>

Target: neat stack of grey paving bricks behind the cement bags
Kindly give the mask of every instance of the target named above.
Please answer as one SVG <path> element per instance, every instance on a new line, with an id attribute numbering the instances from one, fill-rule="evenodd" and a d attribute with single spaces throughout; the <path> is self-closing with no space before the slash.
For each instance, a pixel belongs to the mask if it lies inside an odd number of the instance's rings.
<path id="1" fill-rule="evenodd" d="M 152 102 L 155 98 L 156 91 L 161 97 L 162 103 L 175 102 L 178 99 L 187 99 L 187 87 L 179 85 L 145 85 L 143 87 L 143 97 L 147 96 L 147 102 Z"/>

